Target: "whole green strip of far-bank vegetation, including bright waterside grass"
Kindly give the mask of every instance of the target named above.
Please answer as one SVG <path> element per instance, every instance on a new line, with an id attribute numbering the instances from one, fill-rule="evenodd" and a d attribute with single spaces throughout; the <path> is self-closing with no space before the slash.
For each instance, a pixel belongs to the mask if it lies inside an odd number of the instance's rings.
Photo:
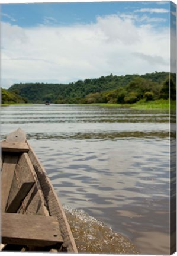
<path id="1" fill-rule="evenodd" d="M 2 103 L 50 101 L 56 104 L 120 104 L 136 108 L 152 108 L 153 105 L 156 108 L 161 104 L 163 108 L 165 102 L 169 102 L 169 84 L 171 99 L 175 101 L 176 75 L 171 74 L 169 78 L 168 72 L 154 72 L 141 76 L 111 74 L 70 84 L 14 84 L 7 91 L 2 89 Z"/>

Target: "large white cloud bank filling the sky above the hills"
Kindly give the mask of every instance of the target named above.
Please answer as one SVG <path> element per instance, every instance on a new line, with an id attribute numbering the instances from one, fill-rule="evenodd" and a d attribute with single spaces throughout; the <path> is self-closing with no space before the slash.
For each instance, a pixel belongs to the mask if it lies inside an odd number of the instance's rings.
<path id="1" fill-rule="evenodd" d="M 170 34 L 131 18 L 21 28 L 2 23 L 1 82 L 70 82 L 102 75 L 169 71 Z"/>

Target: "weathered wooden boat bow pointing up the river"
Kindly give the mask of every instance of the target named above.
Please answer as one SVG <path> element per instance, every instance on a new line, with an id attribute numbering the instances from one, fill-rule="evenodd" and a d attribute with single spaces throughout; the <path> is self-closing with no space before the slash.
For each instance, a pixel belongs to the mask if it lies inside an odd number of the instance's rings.
<path id="1" fill-rule="evenodd" d="M 1 251 L 78 252 L 62 204 L 25 133 L 10 133 L 1 150 Z"/>

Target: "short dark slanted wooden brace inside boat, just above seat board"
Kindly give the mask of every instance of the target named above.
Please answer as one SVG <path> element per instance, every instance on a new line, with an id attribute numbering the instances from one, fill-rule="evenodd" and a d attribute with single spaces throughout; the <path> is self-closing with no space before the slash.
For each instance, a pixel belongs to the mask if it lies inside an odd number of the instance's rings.
<path id="1" fill-rule="evenodd" d="M 28 181 L 21 185 L 20 190 L 15 195 L 14 199 L 12 200 L 11 204 L 7 207 L 7 210 L 5 212 L 7 213 L 16 213 L 19 209 L 21 202 L 25 199 L 29 191 L 31 190 L 31 187 L 33 187 L 34 181 Z"/>

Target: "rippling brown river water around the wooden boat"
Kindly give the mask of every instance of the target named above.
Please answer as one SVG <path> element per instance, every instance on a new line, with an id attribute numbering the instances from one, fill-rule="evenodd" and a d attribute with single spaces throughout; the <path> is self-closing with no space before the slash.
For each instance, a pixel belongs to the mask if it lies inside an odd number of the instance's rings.
<path id="1" fill-rule="evenodd" d="M 1 107 L 63 203 L 79 252 L 169 254 L 169 114 L 99 105 Z"/>

